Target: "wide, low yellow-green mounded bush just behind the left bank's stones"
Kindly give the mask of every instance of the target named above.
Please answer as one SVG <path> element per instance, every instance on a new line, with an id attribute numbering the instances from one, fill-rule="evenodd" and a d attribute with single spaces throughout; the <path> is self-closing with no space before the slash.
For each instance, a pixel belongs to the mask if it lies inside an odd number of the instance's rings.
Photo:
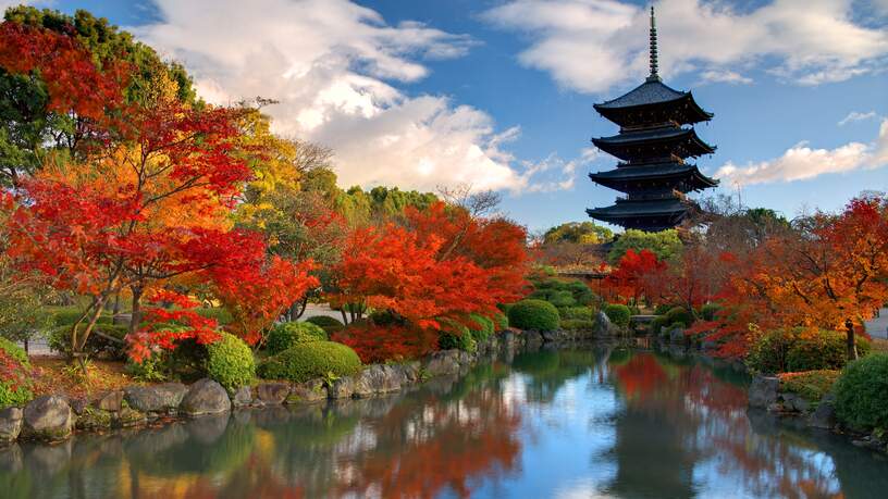
<path id="1" fill-rule="evenodd" d="M 355 350 L 333 341 L 298 344 L 259 364 L 259 375 L 266 379 L 289 379 L 304 383 L 309 379 L 350 376 L 360 371 L 361 363 Z"/>

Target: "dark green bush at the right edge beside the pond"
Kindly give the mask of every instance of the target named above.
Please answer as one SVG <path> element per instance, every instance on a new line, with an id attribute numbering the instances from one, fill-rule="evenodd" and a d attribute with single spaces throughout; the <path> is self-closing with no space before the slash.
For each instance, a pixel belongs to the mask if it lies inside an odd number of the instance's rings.
<path id="1" fill-rule="evenodd" d="M 836 382 L 836 415 L 852 428 L 888 428 L 888 353 L 848 364 Z"/>

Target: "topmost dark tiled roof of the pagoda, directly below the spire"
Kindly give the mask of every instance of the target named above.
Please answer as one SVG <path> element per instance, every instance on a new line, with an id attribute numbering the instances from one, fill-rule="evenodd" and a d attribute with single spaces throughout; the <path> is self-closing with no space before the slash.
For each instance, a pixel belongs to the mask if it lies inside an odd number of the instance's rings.
<path id="1" fill-rule="evenodd" d="M 643 107 L 674 108 L 670 114 L 679 123 L 687 124 L 710 121 L 714 116 L 696 103 L 690 91 L 676 90 L 657 76 L 649 77 L 643 84 L 616 99 L 593 107 L 602 116 L 619 125 L 627 124 L 627 115 Z"/>

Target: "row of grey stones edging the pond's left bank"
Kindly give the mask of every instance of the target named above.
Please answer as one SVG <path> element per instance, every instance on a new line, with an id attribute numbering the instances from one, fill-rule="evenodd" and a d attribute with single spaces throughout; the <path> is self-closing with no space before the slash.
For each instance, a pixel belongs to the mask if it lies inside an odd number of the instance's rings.
<path id="1" fill-rule="evenodd" d="M 418 385 L 432 377 L 464 373 L 471 364 L 501 348 L 514 350 L 523 347 L 529 338 L 536 338 L 536 335 L 507 330 L 480 342 L 474 354 L 443 350 L 420 361 L 368 365 L 360 373 L 338 378 L 332 384 L 323 379 L 306 383 L 269 381 L 244 386 L 230 394 L 219 383 L 203 378 L 188 386 L 181 383 L 134 385 L 90 400 L 45 395 L 24 408 L 0 411 L 0 445 L 18 439 L 55 442 L 70 438 L 75 431 L 136 427 L 161 419 L 225 413 L 232 408 L 374 397 Z"/>

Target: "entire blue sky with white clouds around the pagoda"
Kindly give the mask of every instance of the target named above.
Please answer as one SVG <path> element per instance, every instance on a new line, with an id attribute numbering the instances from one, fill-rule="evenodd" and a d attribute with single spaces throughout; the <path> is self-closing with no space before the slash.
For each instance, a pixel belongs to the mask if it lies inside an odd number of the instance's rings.
<path id="1" fill-rule="evenodd" d="M 0 7 L 13 3 L 0 0 Z M 46 3 L 46 2 L 45 2 Z M 888 190 L 888 0 L 659 0 L 661 75 L 714 112 L 700 167 L 793 215 Z M 532 229 L 613 202 L 592 108 L 646 74 L 650 2 L 55 0 L 126 27 L 213 102 L 261 96 L 343 187 L 502 190 Z"/>

